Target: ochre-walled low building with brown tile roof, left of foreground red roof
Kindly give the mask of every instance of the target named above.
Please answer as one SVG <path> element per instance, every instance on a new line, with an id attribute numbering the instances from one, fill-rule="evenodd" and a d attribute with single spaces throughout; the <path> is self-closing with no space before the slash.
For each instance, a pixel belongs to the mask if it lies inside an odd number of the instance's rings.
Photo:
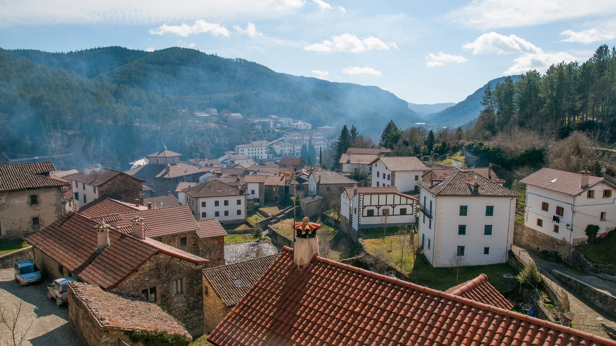
<path id="1" fill-rule="evenodd" d="M 203 270 L 203 320 L 206 334 L 213 331 L 235 304 L 253 288 L 278 255 Z"/>

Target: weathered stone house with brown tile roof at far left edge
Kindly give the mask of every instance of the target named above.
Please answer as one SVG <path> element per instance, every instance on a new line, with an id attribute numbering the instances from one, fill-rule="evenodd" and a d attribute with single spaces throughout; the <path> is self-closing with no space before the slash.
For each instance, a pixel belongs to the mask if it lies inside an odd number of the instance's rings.
<path id="1" fill-rule="evenodd" d="M 19 238 L 62 217 L 62 188 L 51 162 L 0 165 L 0 241 Z"/>

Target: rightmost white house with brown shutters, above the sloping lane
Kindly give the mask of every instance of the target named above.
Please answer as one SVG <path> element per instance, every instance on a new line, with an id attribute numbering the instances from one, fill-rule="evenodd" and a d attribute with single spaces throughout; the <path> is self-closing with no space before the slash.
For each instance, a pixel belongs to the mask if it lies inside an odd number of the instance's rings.
<path id="1" fill-rule="evenodd" d="M 526 184 L 524 225 L 533 230 L 575 246 L 588 240 L 588 225 L 598 225 L 599 235 L 616 227 L 616 186 L 589 171 L 543 168 L 520 182 Z"/>

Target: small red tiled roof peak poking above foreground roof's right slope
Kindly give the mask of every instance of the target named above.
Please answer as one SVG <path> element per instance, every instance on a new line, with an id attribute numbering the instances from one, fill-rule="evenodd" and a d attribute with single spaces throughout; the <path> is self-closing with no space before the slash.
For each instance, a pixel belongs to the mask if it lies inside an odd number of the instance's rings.
<path id="1" fill-rule="evenodd" d="M 513 304 L 503 297 L 500 292 L 496 291 L 494 286 L 488 283 L 488 276 L 485 274 L 480 274 L 477 278 L 454 286 L 445 292 L 487 305 L 494 305 L 505 310 L 513 308 Z"/>

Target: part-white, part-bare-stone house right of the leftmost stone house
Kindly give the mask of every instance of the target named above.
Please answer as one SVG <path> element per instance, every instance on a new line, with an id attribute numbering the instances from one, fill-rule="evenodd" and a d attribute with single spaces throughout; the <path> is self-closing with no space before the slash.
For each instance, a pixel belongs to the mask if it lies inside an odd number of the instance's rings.
<path id="1" fill-rule="evenodd" d="M 88 166 L 75 174 L 67 175 L 73 186 L 74 211 L 85 206 L 94 199 L 108 197 L 132 203 L 144 201 L 145 180 L 132 177 L 124 172 L 113 169 Z"/>

